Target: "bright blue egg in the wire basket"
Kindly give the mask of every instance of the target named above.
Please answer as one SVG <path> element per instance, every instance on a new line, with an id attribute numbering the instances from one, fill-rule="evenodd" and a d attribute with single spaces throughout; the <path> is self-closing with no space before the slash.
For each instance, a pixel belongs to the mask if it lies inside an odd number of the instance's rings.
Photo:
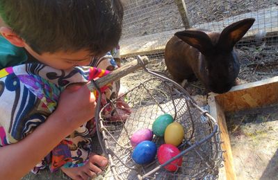
<path id="1" fill-rule="evenodd" d="M 152 141 L 142 141 L 135 147 L 132 159 L 138 164 L 151 163 L 156 156 L 156 150 L 156 144 Z"/>

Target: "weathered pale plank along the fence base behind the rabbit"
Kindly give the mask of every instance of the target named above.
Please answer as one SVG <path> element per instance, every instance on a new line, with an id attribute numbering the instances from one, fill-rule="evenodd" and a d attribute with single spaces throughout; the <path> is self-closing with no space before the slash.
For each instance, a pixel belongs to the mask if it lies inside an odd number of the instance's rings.
<path id="1" fill-rule="evenodd" d="M 210 23 L 196 24 L 193 28 L 206 28 L 208 30 L 221 31 L 224 27 L 247 17 L 254 17 L 256 19 L 252 28 L 248 31 L 245 37 L 252 37 L 264 30 L 265 33 L 273 33 L 278 31 L 278 6 L 272 8 L 265 8 L 256 12 L 248 12 L 243 15 L 237 15 L 223 19 L 222 21 L 212 21 Z M 152 53 L 161 53 L 164 51 L 167 41 L 177 31 L 184 30 L 184 28 L 168 30 L 162 33 L 155 33 L 140 37 L 132 37 L 122 39 L 120 41 L 121 56 L 133 55 L 148 55 Z"/>

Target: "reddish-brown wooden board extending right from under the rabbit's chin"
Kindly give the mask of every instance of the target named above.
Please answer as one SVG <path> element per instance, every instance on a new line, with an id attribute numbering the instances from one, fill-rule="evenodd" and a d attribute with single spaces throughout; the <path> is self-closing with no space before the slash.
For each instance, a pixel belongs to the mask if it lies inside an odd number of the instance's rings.
<path id="1" fill-rule="evenodd" d="M 219 105 L 226 112 L 263 107 L 278 102 L 278 76 L 241 84 L 229 92 L 215 96 Z"/>

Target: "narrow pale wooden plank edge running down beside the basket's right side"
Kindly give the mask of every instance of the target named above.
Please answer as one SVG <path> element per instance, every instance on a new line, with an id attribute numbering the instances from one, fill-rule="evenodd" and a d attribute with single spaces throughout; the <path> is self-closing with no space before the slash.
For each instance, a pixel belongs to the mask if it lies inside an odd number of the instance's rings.
<path id="1" fill-rule="evenodd" d="M 208 97 L 208 105 L 211 116 L 217 121 L 220 129 L 220 136 L 222 143 L 221 147 L 224 150 L 224 170 L 220 169 L 219 179 L 236 179 L 236 170 L 234 167 L 234 159 L 231 153 L 231 143 L 229 139 L 229 132 L 227 129 L 226 118 L 222 107 L 215 100 L 215 95 L 210 94 Z"/>

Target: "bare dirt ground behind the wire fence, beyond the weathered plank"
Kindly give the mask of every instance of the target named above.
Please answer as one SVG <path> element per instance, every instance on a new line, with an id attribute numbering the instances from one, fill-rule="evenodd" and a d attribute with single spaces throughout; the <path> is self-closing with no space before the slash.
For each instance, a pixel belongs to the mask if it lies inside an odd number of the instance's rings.
<path id="1" fill-rule="evenodd" d="M 123 38 L 183 28 L 174 0 L 123 1 L 125 9 Z M 270 0 L 186 0 L 185 2 L 191 26 L 278 6 L 277 1 Z"/>

